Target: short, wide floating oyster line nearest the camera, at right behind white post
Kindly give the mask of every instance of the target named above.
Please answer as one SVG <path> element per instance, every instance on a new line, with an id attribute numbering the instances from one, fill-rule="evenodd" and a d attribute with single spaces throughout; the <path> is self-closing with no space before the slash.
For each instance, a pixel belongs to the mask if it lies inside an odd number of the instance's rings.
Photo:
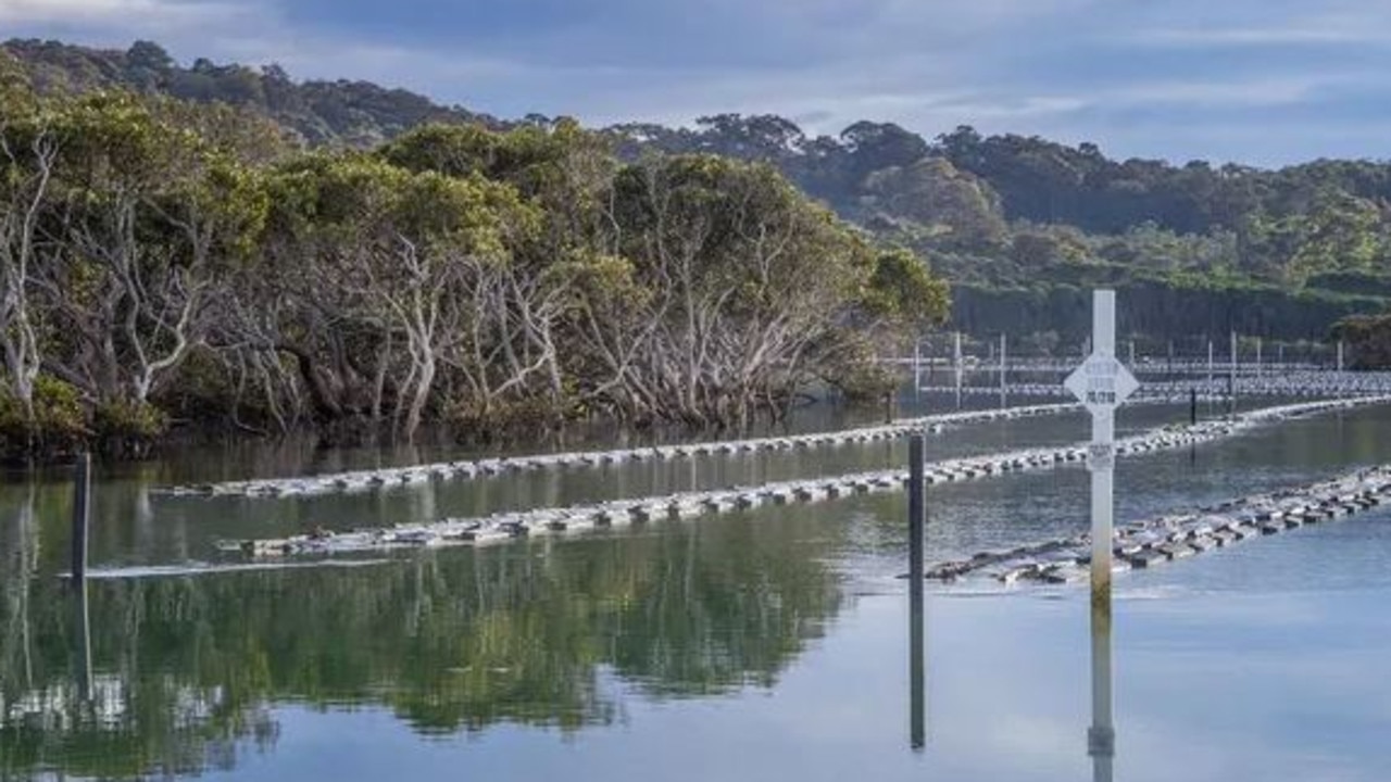
<path id="1" fill-rule="evenodd" d="M 1114 572 L 1153 568 L 1253 537 L 1349 516 L 1391 502 L 1391 465 L 1358 470 L 1301 488 L 1230 500 L 1189 513 L 1164 515 L 1118 526 L 1113 537 Z M 970 559 L 929 566 L 924 577 L 939 582 L 979 576 L 1003 584 L 1085 582 L 1089 534 L 1054 538 Z"/>

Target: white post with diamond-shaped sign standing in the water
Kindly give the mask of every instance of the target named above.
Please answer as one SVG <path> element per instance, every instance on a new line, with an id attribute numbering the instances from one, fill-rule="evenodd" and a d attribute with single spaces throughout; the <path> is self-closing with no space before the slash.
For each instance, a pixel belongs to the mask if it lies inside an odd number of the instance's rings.
<path id="1" fill-rule="evenodd" d="M 1135 376 L 1116 360 L 1116 291 L 1092 294 L 1092 355 L 1064 385 L 1092 413 L 1092 590 L 1111 586 L 1111 476 L 1116 466 L 1116 408 L 1139 388 Z"/>

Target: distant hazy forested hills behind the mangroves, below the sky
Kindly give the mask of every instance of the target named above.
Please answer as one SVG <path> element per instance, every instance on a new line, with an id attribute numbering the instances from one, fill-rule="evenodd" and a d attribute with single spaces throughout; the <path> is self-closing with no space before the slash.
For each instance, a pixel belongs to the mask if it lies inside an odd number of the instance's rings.
<path id="1" fill-rule="evenodd" d="M 274 65 L 182 68 L 147 42 L 4 49 L 43 89 L 127 86 L 250 106 L 316 145 L 369 146 L 428 121 L 501 124 L 364 82 L 295 83 Z M 536 122 L 545 118 L 517 124 Z M 953 281 L 954 320 L 967 331 L 1075 335 L 1086 326 L 1084 291 L 1096 284 L 1123 288 L 1123 328 L 1160 338 L 1228 328 L 1321 338 L 1391 296 L 1391 166 L 1380 161 L 1175 166 L 971 128 L 929 141 L 865 121 L 812 136 L 772 115 L 606 132 L 627 159 L 709 152 L 775 164 L 842 216 L 928 257 Z"/>

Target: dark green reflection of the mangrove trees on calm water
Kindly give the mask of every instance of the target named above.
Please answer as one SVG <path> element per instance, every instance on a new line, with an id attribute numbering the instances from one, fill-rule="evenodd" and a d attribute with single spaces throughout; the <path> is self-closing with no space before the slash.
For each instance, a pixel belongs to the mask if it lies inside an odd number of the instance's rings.
<path id="1" fill-rule="evenodd" d="M 0 768 L 231 764 L 274 742 L 275 701 L 381 704 L 420 732 L 570 731 L 618 718 L 605 672 L 657 697 L 766 686 L 840 607 L 830 544 L 789 552 L 790 538 L 778 522 L 709 523 L 360 569 L 93 582 L 82 714 L 67 601 L 43 589 L 36 687 L 4 692 L 7 707 L 46 703 L 35 719 L 0 711 Z"/>

